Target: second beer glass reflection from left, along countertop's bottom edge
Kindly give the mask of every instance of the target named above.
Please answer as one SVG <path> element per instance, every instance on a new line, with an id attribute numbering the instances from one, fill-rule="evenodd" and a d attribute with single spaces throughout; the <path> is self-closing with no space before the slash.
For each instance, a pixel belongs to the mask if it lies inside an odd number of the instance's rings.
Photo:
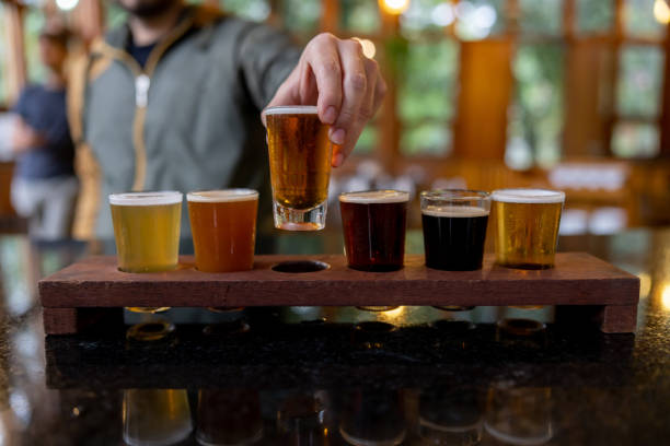
<path id="1" fill-rule="evenodd" d="M 263 437 L 261 400 L 256 390 L 226 389 L 198 392 L 199 444 L 251 445 Z"/>

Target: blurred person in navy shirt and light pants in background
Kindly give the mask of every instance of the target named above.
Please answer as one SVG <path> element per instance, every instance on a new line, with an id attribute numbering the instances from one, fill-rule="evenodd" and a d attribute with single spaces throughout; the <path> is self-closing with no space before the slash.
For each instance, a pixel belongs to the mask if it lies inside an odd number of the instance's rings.
<path id="1" fill-rule="evenodd" d="M 78 181 L 74 146 L 66 115 L 63 66 L 68 33 L 47 25 L 39 35 L 39 57 L 47 68 L 44 85 L 23 90 L 13 111 L 18 115 L 11 148 L 16 155 L 12 204 L 28 219 L 32 238 L 70 236 Z"/>

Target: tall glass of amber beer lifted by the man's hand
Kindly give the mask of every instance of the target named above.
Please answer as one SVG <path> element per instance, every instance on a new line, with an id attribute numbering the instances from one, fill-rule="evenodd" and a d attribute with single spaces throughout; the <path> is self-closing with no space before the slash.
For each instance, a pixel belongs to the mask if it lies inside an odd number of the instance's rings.
<path id="1" fill-rule="evenodd" d="M 314 106 L 269 107 L 267 125 L 275 227 L 325 226 L 333 144 Z"/>

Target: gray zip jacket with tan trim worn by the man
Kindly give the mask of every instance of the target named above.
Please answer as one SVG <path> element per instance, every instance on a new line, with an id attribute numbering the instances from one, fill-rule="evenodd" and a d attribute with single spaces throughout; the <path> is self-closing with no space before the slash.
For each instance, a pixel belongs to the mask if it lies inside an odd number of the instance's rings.
<path id="1" fill-rule="evenodd" d="M 189 7 L 145 69 L 128 55 L 127 26 L 99 42 L 76 69 L 70 121 L 84 188 L 80 237 L 112 237 L 108 193 L 250 187 L 259 227 L 270 224 L 259 111 L 300 51 L 263 24 Z M 184 209 L 182 232 L 188 232 Z"/>

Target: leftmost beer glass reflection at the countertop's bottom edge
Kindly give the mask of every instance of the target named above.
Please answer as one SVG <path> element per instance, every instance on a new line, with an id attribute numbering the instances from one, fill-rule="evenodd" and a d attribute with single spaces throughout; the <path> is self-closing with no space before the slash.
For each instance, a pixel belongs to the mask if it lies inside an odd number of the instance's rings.
<path id="1" fill-rule="evenodd" d="M 173 445 L 193 430 L 184 389 L 124 390 L 124 441 L 130 446 Z"/>

